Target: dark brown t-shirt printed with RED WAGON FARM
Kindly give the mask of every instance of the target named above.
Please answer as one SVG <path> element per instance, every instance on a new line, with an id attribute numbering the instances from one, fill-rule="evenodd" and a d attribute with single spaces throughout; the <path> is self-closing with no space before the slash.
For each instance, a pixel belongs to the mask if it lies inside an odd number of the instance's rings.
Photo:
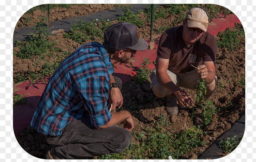
<path id="1" fill-rule="evenodd" d="M 174 73 L 186 73 L 202 65 L 202 61 L 213 61 L 217 55 L 217 43 L 214 37 L 204 32 L 191 47 L 187 46 L 182 37 L 183 26 L 167 29 L 160 37 L 157 56 L 169 59 L 168 70 Z"/>

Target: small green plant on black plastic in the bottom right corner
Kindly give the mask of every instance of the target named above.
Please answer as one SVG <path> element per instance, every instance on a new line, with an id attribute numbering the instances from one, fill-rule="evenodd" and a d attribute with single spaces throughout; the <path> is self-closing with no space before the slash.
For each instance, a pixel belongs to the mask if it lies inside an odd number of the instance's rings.
<path id="1" fill-rule="evenodd" d="M 219 148 L 223 151 L 226 151 L 227 154 L 231 153 L 241 142 L 243 136 L 240 136 L 239 139 L 236 139 L 236 135 L 233 138 L 227 138 L 226 141 L 221 140 L 219 144 Z"/>

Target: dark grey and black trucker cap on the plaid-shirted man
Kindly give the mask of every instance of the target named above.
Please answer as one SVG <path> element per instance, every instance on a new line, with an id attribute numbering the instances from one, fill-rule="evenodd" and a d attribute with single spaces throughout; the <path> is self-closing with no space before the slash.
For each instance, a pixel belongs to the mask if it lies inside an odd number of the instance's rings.
<path id="1" fill-rule="evenodd" d="M 146 50 L 148 43 L 138 37 L 137 26 L 119 22 L 108 27 L 104 34 L 106 46 L 113 49 Z"/>

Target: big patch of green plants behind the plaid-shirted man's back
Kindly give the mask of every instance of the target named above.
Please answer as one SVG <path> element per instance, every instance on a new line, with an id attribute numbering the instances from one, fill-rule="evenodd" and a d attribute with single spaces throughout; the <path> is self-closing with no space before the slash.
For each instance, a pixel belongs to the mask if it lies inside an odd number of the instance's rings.
<path id="1" fill-rule="evenodd" d="M 40 19 L 38 17 L 38 19 Z M 45 76 L 51 75 L 59 64 L 65 59 L 70 52 L 64 52 L 61 48 L 56 47 L 57 43 L 50 40 L 51 33 L 48 32 L 45 21 L 47 18 L 41 16 L 40 22 L 37 22 L 33 28 L 34 33 L 30 33 L 27 41 L 20 42 L 17 41 L 17 46 L 20 51 L 13 53 L 16 57 L 20 59 L 35 59 L 35 69 L 37 69 L 38 63 L 42 60 L 44 64 L 39 71 L 27 71 L 25 77 L 20 77 L 20 73 L 14 75 L 13 80 L 17 82 L 32 80 L 31 85 L 34 84 L 38 79 L 42 79 L 45 83 Z M 53 58 L 52 61 L 47 62 L 44 58 L 48 56 Z"/>

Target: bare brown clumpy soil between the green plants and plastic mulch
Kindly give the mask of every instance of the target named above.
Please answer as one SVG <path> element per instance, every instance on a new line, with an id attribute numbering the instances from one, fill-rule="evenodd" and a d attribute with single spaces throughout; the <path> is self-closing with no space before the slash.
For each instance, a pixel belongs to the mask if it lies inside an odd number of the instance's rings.
<path id="1" fill-rule="evenodd" d="M 97 5 L 96 5 L 97 6 Z M 102 5 L 100 9 L 112 9 L 112 5 Z M 73 7 L 71 9 L 59 9 L 55 10 L 58 13 L 58 17 L 61 19 L 66 18 L 65 16 L 81 16 L 84 13 L 82 9 L 87 12 L 95 12 L 99 10 L 97 7 L 88 5 L 84 8 Z M 55 13 L 54 12 L 54 13 Z M 45 14 L 41 11 L 34 11 L 38 15 Z M 52 13 L 51 13 L 52 14 Z M 141 19 L 145 19 L 143 15 L 140 15 Z M 30 16 L 32 20 L 36 15 Z M 52 16 L 53 17 L 53 16 Z M 164 26 L 169 22 L 172 22 L 175 16 L 167 16 L 166 19 L 160 19 L 154 22 L 154 27 L 158 28 Z M 55 19 L 54 19 L 55 20 Z M 242 26 L 240 23 L 236 23 L 236 26 Z M 18 26 L 17 26 L 18 27 Z M 233 30 L 234 28 L 228 28 L 227 30 Z M 150 22 L 139 29 L 138 34 L 140 38 L 149 40 Z M 63 37 L 63 31 L 55 31 L 52 40 L 59 42 L 59 47 L 63 50 L 73 51 L 81 45 L 74 43 L 72 40 L 68 40 Z M 154 38 L 158 40 L 158 35 L 155 34 Z M 218 40 L 219 37 L 215 36 Z M 88 43 L 88 42 L 85 42 Z M 18 47 L 13 48 L 14 52 L 19 50 Z M 52 60 L 52 58 L 45 58 L 45 60 Z M 35 58 L 32 60 L 24 59 L 21 60 L 13 56 L 13 75 L 17 73 L 24 74 L 26 71 L 39 70 L 44 62 L 38 64 L 37 69 L 34 66 Z M 154 63 L 154 62 L 153 62 Z M 152 72 L 154 69 L 148 71 Z M 245 85 L 239 84 L 245 76 L 245 38 L 242 39 L 240 47 L 236 50 L 230 51 L 227 48 L 219 48 L 216 60 L 216 76 L 217 76 L 217 87 L 210 98 L 217 109 L 216 114 L 213 115 L 212 123 L 204 128 L 204 131 L 208 132 L 207 135 L 202 136 L 202 140 L 205 140 L 206 145 L 198 148 L 194 148 L 194 152 L 184 155 L 184 159 L 197 159 L 198 156 L 204 152 L 212 143 L 215 142 L 222 133 L 229 130 L 234 122 L 236 122 L 240 115 L 245 112 Z M 123 105 L 135 105 L 136 110 L 130 110 L 133 121 L 134 129 L 132 131 L 141 132 L 146 127 L 151 127 L 150 123 L 155 123 L 160 114 L 166 115 L 166 117 L 172 123 L 166 126 L 164 129 L 169 130 L 171 133 L 179 133 L 186 129 L 187 127 L 192 127 L 193 123 L 191 121 L 192 108 L 179 109 L 178 115 L 169 116 L 165 111 L 166 98 L 157 98 L 153 94 L 150 88 L 150 80 L 146 81 L 144 84 L 137 84 L 135 81 L 128 81 L 123 84 L 122 94 L 123 94 Z M 14 83 L 18 85 L 21 83 Z M 223 85 L 223 86 L 222 86 Z M 193 100 L 196 98 L 196 91 L 183 89 L 191 95 Z M 241 128 L 244 130 L 244 128 Z M 17 136 L 17 141 L 20 146 L 26 150 L 28 153 L 34 157 L 45 159 L 45 154 L 51 149 L 51 145 L 47 143 L 45 137 L 35 131 L 32 127 L 27 126 L 26 129 L 22 129 L 19 132 L 20 136 Z M 147 136 L 147 134 L 144 134 Z M 232 137 L 231 137 L 232 138 Z M 136 142 L 135 138 L 132 138 L 132 143 Z M 97 157 L 95 157 L 97 158 Z"/>

